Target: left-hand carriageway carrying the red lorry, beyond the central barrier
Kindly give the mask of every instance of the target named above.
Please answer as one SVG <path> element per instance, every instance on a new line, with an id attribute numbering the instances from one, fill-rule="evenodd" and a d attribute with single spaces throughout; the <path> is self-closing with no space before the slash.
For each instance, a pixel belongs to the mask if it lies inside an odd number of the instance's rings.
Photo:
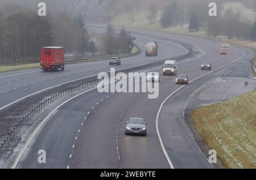
<path id="1" fill-rule="evenodd" d="M 94 31 L 94 29 L 91 29 Z M 105 29 L 98 29 L 98 33 L 104 33 Z M 146 35 L 134 35 L 137 37 L 136 44 L 142 49 L 141 54 L 135 57 L 122 58 L 121 66 L 113 66 L 116 69 L 131 67 L 134 65 L 142 65 L 144 63 L 153 62 L 157 59 L 164 59 L 170 56 L 185 54 L 185 50 L 179 46 L 165 42 Z M 148 41 L 158 41 L 159 55 L 158 57 L 145 57 L 144 45 Z M 69 82 L 90 75 L 97 75 L 100 72 L 109 71 L 109 61 L 84 62 L 72 65 L 66 65 L 64 71 L 44 72 L 39 68 L 31 68 L 27 70 L 3 72 L 0 74 L 0 110 L 3 106 L 9 105 L 20 98 L 31 95 L 42 89 L 52 87 L 57 84 Z M 1 118 L 1 117 L 0 117 Z"/>

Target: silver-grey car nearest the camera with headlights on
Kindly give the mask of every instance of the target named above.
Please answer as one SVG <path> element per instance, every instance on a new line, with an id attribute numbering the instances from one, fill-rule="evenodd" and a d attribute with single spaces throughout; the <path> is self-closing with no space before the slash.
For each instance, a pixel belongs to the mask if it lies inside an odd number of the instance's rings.
<path id="1" fill-rule="evenodd" d="M 142 134 L 147 135 L 147 123 L 143 118 L 129 118 L 129 121 L 125 122 L 125 134 Z"/>

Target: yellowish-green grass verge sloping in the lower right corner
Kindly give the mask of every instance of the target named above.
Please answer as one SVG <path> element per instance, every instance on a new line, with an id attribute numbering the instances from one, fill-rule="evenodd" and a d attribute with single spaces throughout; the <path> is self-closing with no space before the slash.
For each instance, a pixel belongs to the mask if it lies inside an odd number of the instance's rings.
<path id="1" fill-rule="evenodd" d="M 256 91 L 253 91 L 192 111 L 197 131 L 208 147 L 217 151 L 226 168 L 256 168 L 255 109 Z"/>

